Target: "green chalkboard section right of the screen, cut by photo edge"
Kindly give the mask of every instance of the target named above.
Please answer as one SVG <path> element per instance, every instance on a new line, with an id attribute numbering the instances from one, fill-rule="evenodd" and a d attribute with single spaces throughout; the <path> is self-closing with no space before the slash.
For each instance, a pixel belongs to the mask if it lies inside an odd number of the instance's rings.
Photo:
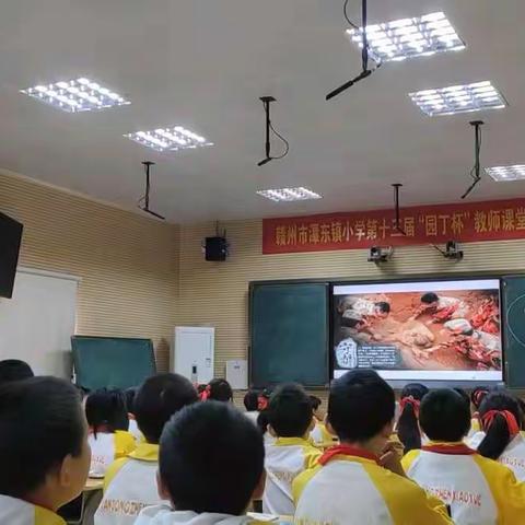
<path id="1" fill-rule="evenodd" d="M 505 383 L 525 387 L 525 276 L 502 279 Z"/>

